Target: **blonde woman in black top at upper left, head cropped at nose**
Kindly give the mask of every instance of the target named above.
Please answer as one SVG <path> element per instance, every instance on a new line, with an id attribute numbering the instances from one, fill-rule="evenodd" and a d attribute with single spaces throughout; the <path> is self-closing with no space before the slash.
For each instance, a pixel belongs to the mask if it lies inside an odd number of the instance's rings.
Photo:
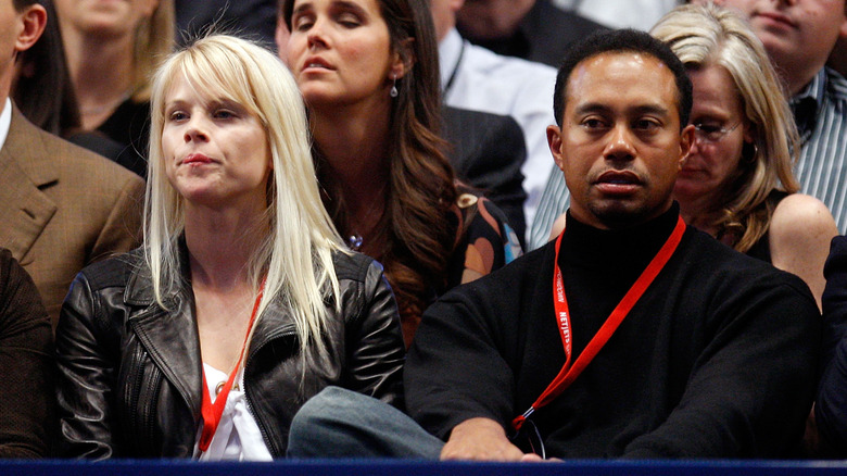
<path id="1" fill-rule="evenodd" d="M 150 77 L 174 48 L 174 0 L 54 3 L 81 129 L 122 145 L 121 162 L 143 175 Z"/>

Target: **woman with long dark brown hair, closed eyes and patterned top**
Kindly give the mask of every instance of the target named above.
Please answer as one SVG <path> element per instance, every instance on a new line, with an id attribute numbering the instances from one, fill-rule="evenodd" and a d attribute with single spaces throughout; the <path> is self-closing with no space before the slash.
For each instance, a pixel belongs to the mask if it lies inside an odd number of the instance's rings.
<path id="1" fill-rule="evenodd" d="M 286 0 L 282 15 L 324 203 L 349 245 L 385 266 L 408 346 L 439 295 L 520 253 L 502 212 L 457 185 L 444 155 L 428 3 Z"/>

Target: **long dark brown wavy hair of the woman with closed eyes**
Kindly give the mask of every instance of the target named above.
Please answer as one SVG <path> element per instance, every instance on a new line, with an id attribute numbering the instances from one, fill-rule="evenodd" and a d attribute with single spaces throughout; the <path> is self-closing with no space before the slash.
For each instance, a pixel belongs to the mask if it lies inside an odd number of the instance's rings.
<path id="1" fill-rule="evenodd" d="M 375 256 L 382 262 L 392 285 L 408 338 L 433 292 L 446 285 L 447 262 L 453 254 L 456 224 L 448 220 L 458 192 L 453 167 L 444 155 L 441 128 L 441 89 L 438 42 L 428 1 L 378 0 L 392 51 L 413 65 L 399 79 L 392 101 L 389 130 L 389 185 L 387 209 L 380 228 L 385 248 Z M 283 0 L 282 15 L 291 27 L 294 0 Z M 406 46 L 404 48 L 404 46 Z M 319 154 L 316 154 L 320 162 Z M 318 178 L 323 170 L 318 163 Z M 327 184 L 328 180 L 321 180 Z M 340 191 L 327 189 L 325 203 L 336 225 L 343 227 Z M 340 229 L 344 234 L 344 229 Z"/>

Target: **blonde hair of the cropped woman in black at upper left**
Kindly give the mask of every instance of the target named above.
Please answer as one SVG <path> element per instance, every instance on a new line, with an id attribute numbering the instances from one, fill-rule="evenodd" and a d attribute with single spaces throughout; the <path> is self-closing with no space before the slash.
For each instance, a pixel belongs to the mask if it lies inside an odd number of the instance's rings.
<path id="1" fill-rule="evenodd" d="M 150 99 L 150 78 L 156 65 L 174 48 L 176 20 L 174 0 L 159 0 L 153 14 L 143 18 L 136 28 L 132 49 L 132 100 Z"/>

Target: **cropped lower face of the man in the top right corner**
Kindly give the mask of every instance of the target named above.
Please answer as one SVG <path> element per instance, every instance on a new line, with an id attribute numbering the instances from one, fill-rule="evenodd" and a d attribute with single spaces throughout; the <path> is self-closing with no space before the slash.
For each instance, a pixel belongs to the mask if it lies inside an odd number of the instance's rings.
<path id="1" fill-rule="evenodd" d="M 749 20 L 772 61 L 788 79 L 793 93 L 823 67 L 838 36 L 847 36 L 844 2 L 845 0 L 716 1 L 741 11 Z"/>

